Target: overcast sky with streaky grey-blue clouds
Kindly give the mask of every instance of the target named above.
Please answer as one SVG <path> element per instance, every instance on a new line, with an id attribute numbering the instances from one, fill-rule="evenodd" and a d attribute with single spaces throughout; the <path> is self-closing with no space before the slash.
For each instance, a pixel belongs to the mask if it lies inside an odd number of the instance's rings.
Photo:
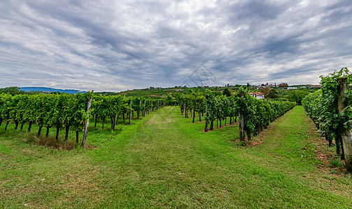
<path id="1" fill-rule="evenodd" d="M 351 0 L 0 1 L 0 88 L 318 84 L 343 67 Z"/>

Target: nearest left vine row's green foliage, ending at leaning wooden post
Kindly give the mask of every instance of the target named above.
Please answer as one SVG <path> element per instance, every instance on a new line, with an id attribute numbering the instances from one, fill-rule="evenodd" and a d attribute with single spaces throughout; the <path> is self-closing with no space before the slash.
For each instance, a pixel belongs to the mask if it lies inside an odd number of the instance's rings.
<path id="1" fill-rule="evenodd" d="M 92 93 L 76 95 L 36 94 L 0 95 L 0 121 L 36 123 L 49 127 L 73 126 L 82 130 L 87 121 L 87 98 Z"/>

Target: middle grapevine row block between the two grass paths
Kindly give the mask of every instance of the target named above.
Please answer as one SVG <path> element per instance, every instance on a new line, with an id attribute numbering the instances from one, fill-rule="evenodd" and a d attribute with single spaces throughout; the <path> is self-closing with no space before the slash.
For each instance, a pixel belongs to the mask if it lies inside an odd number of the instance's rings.
<path id="1" fill-rule="evenodd" d="M 242 92 L 242 95 L 241 95 Z M 196 112 L 205 113 L 205 131 L 214 128 L 214 121 L 217 121 L 217 127 L 220 127 L 222 121 L 229 118 L 230 124 L 236 122 L 237 116 L 243 118 L 243 130 L 247 134 L 247 139 L 251 135 L 261 132 L 270 122 L 279 118 L 286 111 L 295 107 L 295 102 L 288 101 L 271 101 L 257 100 L 249 95 L 244 89 L 235 92 L 230 97 L 223 95 L 218 91 L 207 91 L 205 95 L 192 91 L 190 94 L 177 95 L 177 101 L 181 114 L 188 117 L 188 113 L 193 111 L 193 123 Z M 244 139 L 244 134 L 242 134 Z"/>

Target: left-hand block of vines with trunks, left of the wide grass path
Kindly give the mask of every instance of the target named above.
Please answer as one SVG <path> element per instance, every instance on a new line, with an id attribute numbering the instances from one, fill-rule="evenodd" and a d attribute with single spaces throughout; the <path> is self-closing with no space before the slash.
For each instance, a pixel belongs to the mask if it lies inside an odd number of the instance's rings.
<path id="1" fill-rule="evenodd" d="M 111 129 L 122 116 L 122 120 L 131 118 L 134 113 L 137 119 L 151 111 L 166 105 L 166 100 L 147 100 L 145 98 L 126 98 L 121 95 L 93 95 L 93 93 L 68 94 L 38 94 L 38 95 L 0 95 L 0 127 L 6 123 L 6 132 L 10 122 L 15 123 L 14 130 L 24 124 L 28 125 L 28 132 L 31 132 L 33 124 L 38 125 L 37 136 L 41 136 L 42 128 L 46 127 L 45 137 L 48 137 L 51 127 L 56 128 L 55 139 L 59 140 L 60 130 L 65 130 L 63 143 L 68 140 L 70 128 L 75 131 L 76 144 L 79 142 L 80 132 L 85 132 L 82 146 L 87 140 L 89 118 L 96 122 L 101 120 L 104 129 L 105 119 L 110 118 Z"/>

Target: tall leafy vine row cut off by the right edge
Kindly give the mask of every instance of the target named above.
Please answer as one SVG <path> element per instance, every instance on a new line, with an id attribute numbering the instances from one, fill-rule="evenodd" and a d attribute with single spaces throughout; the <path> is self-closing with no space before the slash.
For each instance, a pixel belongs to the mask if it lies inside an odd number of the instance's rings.
<path id="1" fill-rule="evenodd" d="M 327 76 L 321 76 L 321 90 L 307 95 L 302 101 L 307 114 L 332 146 L 335 139 L 336 154 L 346 161 L 352 172 L 352 75 L 342 68 Z"/>

